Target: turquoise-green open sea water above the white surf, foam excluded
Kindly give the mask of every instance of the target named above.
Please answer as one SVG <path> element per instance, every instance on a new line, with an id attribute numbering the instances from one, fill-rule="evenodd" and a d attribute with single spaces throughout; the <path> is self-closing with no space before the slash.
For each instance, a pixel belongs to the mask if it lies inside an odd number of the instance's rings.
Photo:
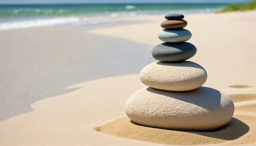
<path id="1" fill-rule="evenodd" d="M 0 5 L 0 17 L 69 16 L 127 11 L 207 10 L 219 9 L 226 5 L 225 3 Z"/>

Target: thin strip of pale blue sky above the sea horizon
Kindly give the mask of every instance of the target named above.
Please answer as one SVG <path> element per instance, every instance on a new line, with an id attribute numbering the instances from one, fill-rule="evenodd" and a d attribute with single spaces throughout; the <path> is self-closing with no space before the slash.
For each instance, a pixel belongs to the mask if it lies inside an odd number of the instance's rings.
<path id="1" fill-rule="evenodd" d="M 251 0 L 0 0 L 0 3 L 171 3 L 171 2 L 198 2 L 198 3 L 229 3 L 248 2 Z"/>

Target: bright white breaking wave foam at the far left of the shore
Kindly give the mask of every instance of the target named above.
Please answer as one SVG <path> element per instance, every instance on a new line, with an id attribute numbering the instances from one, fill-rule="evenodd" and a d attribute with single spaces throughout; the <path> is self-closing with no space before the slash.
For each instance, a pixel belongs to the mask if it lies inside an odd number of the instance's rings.
<path id="1" fill-rule="evenodd" d="M 79 21 L 80 21 L 79 17 L 63 17 L 63 18 L 47 18 L 47 19 L 8 22 L 8 23 L 0 23 L 0 30 L 40 27 L 40 26 L 54 26 L 59 24 L 77 23 Z"/>

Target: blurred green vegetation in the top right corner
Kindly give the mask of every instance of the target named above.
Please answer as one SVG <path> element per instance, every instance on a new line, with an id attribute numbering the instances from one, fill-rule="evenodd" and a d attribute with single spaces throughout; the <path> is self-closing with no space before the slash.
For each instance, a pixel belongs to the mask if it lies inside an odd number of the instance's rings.
<path id="1" fill-rule="evenodd" d="M 216 11 L 216 13 L 229 12 L 229 11 L 246 11 L 246 10 L 256 10 L 256 0 L 253 0 L 252 2 L 245 3 L 245 4 L 232 3 L 230 5 L 227 5 L 225 8 L 219 11 Z"/>

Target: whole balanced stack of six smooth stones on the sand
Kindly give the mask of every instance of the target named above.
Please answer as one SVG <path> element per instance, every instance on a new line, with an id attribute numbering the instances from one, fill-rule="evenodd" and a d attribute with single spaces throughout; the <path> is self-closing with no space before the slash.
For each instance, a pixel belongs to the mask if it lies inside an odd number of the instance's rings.
<path id="1" fill-rule="evenodd" d="M 191 61 L 197 48 L 188 41 L 192 34 L 184 27 L 184 15 L 169 14 L 161 23 L 165 28 L 158 38 L 165 43 L 155 46 L 151 63 L 140 72 L 149 86 L 130 96 L 125 105 L 127 116 L 147 127 L 207 131 L 227 124 L 234 114 L 231 98 L 216 89 L 201 87 L 206 70 Z"/>

